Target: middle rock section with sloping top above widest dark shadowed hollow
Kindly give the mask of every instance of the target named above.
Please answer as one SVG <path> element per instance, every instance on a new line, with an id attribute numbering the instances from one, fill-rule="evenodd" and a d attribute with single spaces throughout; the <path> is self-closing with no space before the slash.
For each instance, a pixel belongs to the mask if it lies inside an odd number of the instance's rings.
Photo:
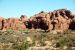
<path id="1" fill-rule="evenodd" d="M 36 14 L 35 16 L 30 18 L 32 22 L 32 28 L 34 29 L 48 29 L 47 22 L 46 22 L 46 13 L 41 12 L 39 14 Z"/>

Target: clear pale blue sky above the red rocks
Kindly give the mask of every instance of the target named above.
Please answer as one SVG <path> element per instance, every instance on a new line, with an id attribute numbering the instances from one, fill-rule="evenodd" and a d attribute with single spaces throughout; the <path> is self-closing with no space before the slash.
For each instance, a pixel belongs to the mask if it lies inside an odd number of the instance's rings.
<path id="1" fill-rule="evenodd" d="M 75 13 L 75 0 L 0 0 L 0 16 L 19 18 L 28 17 L 40 11 L 53 11 L 66 8 Z"/>

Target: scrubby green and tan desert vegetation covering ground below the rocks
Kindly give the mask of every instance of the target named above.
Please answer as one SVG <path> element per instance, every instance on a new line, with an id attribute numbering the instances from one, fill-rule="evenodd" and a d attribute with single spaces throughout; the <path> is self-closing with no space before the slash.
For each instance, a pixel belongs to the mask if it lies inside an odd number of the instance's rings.
<path id="1" fill-rule="evenodd" d="M 49 46 L 49 48 L 61 48 L 71 50 L 75 47 L 75 33 L 66 30 L 63 33 L 57 31 L 45 32 L 44 30 L 31 31 L 9 28 L 0 31 L 0 48 L 2 50 L 27 50 L 30 47 Z"/>

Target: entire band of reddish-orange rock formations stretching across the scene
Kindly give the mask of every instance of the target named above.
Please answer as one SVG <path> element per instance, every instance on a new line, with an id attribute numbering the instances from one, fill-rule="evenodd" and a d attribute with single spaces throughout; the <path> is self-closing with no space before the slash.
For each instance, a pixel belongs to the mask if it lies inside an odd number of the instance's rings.
<path id="1" fill-rule="evenodd" d="M 0 30 L 13 28 L 14 30 L 21 29 L 43 29 L 64 31 L 67 29 L 75 30 L 75 15 L 66 9 L 54 10 L 53 12 L 43 12 L 30 17 L 29 19 L 22 15 L 17 18 L 0 18 Z"/>

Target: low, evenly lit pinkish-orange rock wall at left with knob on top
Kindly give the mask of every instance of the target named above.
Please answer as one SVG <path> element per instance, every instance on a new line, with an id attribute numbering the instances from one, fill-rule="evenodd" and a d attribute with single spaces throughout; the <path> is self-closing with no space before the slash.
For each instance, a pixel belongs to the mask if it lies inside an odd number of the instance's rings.
<path id="1" fill-rule="evenodd" d="M 25 22 L 27 21 L 27 18 L 24 16 L 21 19 L 18 18 L 0 18 L 0 30 L 5 30 L 8 28 L 12 28 L 14 30 L 25 30 L 26 29 L 26 24 Z"/>

